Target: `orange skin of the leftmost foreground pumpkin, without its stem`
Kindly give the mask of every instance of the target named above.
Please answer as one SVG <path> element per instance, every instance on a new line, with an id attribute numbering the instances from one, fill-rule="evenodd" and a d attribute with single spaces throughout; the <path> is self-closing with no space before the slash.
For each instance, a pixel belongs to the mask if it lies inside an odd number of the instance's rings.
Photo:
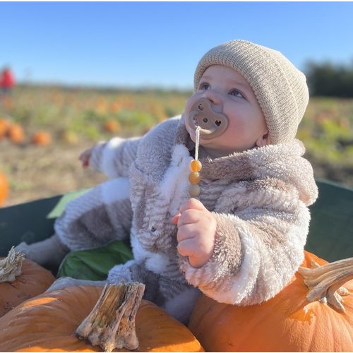
<path id="1" fill-rule="evenodd" d="M 25 259 L 22 274 L 15 281 L 0 283 L 0 317 L 23 301 L 42 294 L 54 280 L 48 270 Z"/>

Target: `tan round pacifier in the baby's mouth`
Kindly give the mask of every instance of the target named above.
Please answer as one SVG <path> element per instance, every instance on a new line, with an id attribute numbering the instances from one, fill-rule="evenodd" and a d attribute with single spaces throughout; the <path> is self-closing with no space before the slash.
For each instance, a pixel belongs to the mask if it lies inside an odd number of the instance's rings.
<path id="1" fill-rule="evenodd" d="M 186 124 L 193 130 L 200 126 L 200 136 L 204 139 L 210 139 L 225 132 L 228 126 L 228 118 L 223 113 L 215 112 L 210 100 L 200 98 L 191 107 Z"/>

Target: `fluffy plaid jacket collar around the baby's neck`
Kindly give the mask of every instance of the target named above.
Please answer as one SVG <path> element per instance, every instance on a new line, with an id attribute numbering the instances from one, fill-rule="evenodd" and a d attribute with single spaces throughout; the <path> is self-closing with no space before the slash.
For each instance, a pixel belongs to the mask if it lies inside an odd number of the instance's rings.
<path id="1" fill-rule="evenodd" d="M 189 137 L 183 116 L 177 126 L 174 142 L 185 145 L 193 155 L 195 143 Z M 301 199 L 306 204 L 311 204 L 316 200 L 318 190 L 313 179 L 311 164 L 302 157 L 304 152 L 304 144 L 294 139 L 288 143 L 234 152 L 225 157 L 214 159 L 201 157 L 203 165 L 201 176 L 203 179 L 233 181 L 267 177 L 280 179 L 297 186 L 299 193 L 302 194 Z"/>

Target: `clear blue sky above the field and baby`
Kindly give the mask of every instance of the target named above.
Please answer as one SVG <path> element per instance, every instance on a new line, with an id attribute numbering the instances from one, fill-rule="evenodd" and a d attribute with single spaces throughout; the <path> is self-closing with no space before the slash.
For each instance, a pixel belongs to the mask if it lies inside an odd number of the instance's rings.
<path id="1" fill-rule="evenodd" d="M 353 62 L 352 2 L 0 2 L 0 66 L 35 83 L 191 88 L 211 47 L 245 39 Z"/>

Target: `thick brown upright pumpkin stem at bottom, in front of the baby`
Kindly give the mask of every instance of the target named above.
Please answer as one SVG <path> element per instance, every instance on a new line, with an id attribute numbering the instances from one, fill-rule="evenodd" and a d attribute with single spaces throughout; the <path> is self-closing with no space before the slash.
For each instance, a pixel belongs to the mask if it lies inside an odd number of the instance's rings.
<path id="1" fill-rule="evenodd" d="M 137 349 L 135 317 L 145 290 L 138 282 L 106 284 L 90 314 L 78 326 L 76 334 L 100 345 L 104 352 L 114 348 Z"/>

